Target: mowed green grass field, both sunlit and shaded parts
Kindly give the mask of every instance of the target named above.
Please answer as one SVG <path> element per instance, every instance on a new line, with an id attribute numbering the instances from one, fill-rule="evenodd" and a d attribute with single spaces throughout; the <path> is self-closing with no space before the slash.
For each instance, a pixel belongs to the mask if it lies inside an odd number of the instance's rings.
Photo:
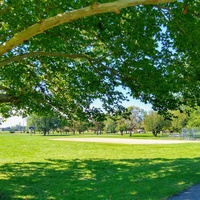
<path id="1" fill-rule="evenodd" d="M 200 143 L 52 140 L 65 137 L 88 136 L 0 133 L 0 199 L 160 200 L 200 183 Z"/>

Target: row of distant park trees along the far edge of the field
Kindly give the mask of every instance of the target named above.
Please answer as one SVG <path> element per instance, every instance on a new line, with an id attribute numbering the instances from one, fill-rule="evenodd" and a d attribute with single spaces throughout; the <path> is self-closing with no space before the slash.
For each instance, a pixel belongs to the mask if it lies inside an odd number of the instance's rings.
<path id="1" fill-rule="evenodd" d="M 89 120 L 66 120 L 56 116 L 31 115 L 27 120 L 29 131 L 39 131 L 44 135 L 51 133 L 68 133 L 92 131 L 96 134 L 152 132 L 154 136 L 163 131 L 180 132 L 184 127 L 200 127 L 200 108 L 191 112 L 190 116 L 180 111 L 171 111 L 172 118 L 166 119 L 155 111 L 131 106 L 117 115 L 106 114 L 105 118 Z"/>

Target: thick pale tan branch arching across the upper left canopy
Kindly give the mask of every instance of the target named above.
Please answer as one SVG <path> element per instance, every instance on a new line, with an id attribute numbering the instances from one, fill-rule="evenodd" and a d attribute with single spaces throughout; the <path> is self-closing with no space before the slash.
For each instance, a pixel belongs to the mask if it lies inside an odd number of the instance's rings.
<path id="1" fill-rule="evenodd" d="M 0 55 L 10 51 L 14 47 L 22 44 L 25 40 L 30 39 L 31 37 L 43 33 L 44 31 L 53 28 L 55 26 L 61 25 L 63 23 L 71 22 L 80 18 L 115 12 L 119 13 L 121 9 L 137 6 L 137 5 L 148 5 L 148 4 L 164 4 L 173 2 L 175 0 L 117 0 L 114 2 L 103 3 L 103 4 L 93 4 L 85 8 L 73 10 L 70 12 L 65 12 L 58 14 L 54 17 L 41 20 L 40 22 L 28 27 L 27 29 L 16 33 L 10 40 L 4 42 L 0 46 Z"/>

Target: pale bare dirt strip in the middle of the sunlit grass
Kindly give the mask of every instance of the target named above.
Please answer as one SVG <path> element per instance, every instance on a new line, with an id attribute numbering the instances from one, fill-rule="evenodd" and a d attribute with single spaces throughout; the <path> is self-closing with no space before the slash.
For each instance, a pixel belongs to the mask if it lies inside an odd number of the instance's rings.
<path id="1" fill-rule="evenodd" d="M 100 142 L 115 144 L 180 144 L 196 143 L 192 140 L 149 140 L 149 139 L 123 139 L 123 138 L 58 138 L 53 140 L 74 141 L 74 142 Z"/>

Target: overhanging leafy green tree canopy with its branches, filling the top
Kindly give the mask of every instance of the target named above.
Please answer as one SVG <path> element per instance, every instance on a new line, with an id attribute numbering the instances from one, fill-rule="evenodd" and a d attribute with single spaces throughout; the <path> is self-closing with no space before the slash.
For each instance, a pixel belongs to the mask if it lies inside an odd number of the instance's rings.
<path id="1" fill-rule="evenodd" d="M 199 105 L 199 0 L 0 1 L 0 112 L 96 115 L 126 96 Z"/>

